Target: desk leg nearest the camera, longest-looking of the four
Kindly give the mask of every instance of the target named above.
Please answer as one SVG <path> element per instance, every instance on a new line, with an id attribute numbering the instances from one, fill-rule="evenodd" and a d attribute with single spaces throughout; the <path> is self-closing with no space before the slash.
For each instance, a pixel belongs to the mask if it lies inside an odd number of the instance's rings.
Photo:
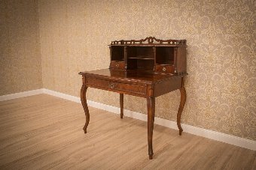
<path id="1" fill-rule="evenodd" d="M 153 138 L 153 129 L 154 129 L 154 110 L 155 110 L 155 101 L 154 97 L 148 97 L 148 156 L 149 160 L 153 159 L 153 147 L 152 147 L 152 138 Z"/>

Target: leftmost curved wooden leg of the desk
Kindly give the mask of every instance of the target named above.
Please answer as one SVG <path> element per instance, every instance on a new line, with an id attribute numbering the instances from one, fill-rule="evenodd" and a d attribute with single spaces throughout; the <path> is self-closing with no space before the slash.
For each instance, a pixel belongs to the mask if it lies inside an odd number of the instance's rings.
<path id="1" fill-rule="evenodd" d="M 85 118 L 86 118 L 84 128 L 83 128 L 84 133 L 87 133 L 87 127 L 88 127 L 88 124 L 89 124 L 89 121 L 90 121 L 90 114 L 89 114 L 89 109 L 88 109 L 88 106 L 87 106 L 87 98 L 86 98 L 87 88 L 88 87 L 83 84 L 82 88 L 81 88 L 81 93 L 80 93 L 81 103 L 83 105 Z"/>

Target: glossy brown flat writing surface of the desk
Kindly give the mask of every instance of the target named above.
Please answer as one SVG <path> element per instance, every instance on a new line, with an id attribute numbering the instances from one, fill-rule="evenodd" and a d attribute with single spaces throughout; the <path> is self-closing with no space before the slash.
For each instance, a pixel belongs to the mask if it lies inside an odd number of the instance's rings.
<path id="1" fill-rule="evenodd" d="M 175 79 L 183 76 L 187 76 L 187 73 L 181 75 L 169 75 L 154 73 L 151 70 L 113 70 L 113 69 L 102 69 L 80 72 L 79 74 L 85 76 L 94 76 L 105 79 L 123 80 L 130 82 L 142 82 L 152 84 L 161 82 L 166 79 Z"/>

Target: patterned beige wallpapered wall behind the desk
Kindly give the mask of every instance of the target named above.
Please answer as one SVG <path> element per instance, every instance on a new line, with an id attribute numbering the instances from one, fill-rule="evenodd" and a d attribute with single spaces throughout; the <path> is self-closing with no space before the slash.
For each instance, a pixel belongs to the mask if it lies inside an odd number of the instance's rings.
<path id="1" fill-rule="evenodd" d="M 79 71 L 108 67 L 111 40 L 187 40 L 187 103 L 181 123 L 256 140 L 256 1 L 39 0 L 44 88 L 79 96 Z M 175 121 L 179 91 L 157 97 L 156 115 Z M 88 89 L 112 106 L 119 95 Z M 143 98 L 125 109 L 147 113 Z"/>

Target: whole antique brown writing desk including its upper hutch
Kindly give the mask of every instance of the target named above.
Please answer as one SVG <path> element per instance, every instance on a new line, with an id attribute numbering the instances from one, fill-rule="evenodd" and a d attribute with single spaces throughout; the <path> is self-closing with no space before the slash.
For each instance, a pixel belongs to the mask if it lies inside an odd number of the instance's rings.
<path id="1" fill-rule="evenodd" d="M 177 124 L 179 135 L 182 132 L 181 112 L 186 100 L 186 40 L 147 37 L 144 40 L 112 41 L 109 48 L 111 61 L 108 69 L 79 73 L 83 80 L 81 103 L 86 116 L 84 133 L 87 133 L 90 121 L 86 100 L 88 87 L 119 93 L 120 118 L 123 118 L 123 94 L 145 97 L 148 106 L 148 155 L 152 159 L 155 97 L 180 90 Z"/>

